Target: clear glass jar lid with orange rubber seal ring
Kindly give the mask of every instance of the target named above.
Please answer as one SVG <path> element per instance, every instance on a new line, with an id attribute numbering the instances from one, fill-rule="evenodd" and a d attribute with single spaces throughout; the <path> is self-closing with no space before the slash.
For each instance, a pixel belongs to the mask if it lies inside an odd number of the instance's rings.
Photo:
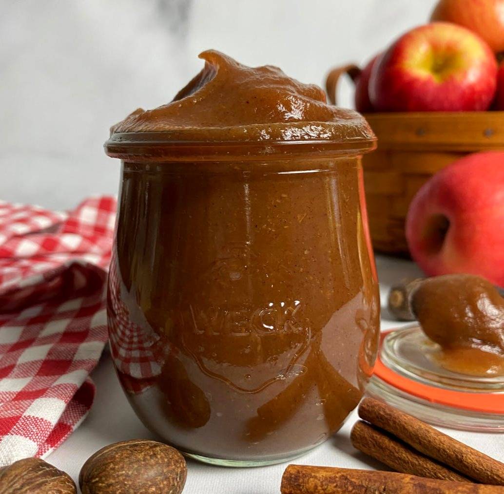
<path id="1" fill-rule="evenodd" d="M 418 324 L 382 333 L 368 394 L 434 425 L 504 432 L 504 376 L 448 371 L 434 350 Z"/>

